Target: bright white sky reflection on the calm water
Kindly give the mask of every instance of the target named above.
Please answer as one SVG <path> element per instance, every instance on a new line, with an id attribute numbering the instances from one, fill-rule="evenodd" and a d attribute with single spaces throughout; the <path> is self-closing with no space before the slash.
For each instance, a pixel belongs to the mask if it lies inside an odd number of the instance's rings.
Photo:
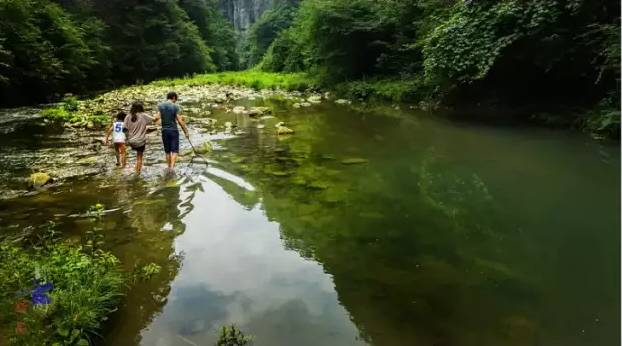
<path id="1" fill-rule="evenodd" d="M 277 223 L 259 208 L 238 204 L 213 181 L 204 182 L 203 190 L 184 219 L 188 230 L 176 239 L 183 268 L 142 344 L 186 339 L 208 345 L 227 323 L 253 334 L 257 345 L 360 343 L 331 277 L 317 263 L 284 250 Z"/>

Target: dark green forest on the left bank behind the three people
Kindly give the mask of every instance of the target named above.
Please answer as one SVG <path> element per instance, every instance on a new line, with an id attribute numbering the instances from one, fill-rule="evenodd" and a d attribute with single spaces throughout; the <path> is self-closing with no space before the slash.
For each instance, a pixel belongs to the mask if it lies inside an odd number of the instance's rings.
<path id="1" fill-rule="evenodd" d="M 2 0 L 0 18 L 3 103 L 238 67 L 209 0 Z"/>

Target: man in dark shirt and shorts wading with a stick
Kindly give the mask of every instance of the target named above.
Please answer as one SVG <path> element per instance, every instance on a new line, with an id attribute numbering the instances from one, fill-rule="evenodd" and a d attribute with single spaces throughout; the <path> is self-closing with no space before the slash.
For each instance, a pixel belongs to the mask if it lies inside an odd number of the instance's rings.
<path id="1" fill-rule="evenodd" d="M 175 169 L 175 161 L 177 161 L 177 155 L 179 154 L 179 130 L 177 124 L 181 126 L 186 138 L 190 138 L 188 135 L 188 128 L 181 116 L 181 109 L 177 103 L 177 93 L 171 91 L 166 95 L 166 102 L 162 102 L 158 105 L 158 113 L 156 114 L 156 121 L 162 122 L 162 144 L 164 144 L 164 153 L 166 153 L 166 163 L 168 164 L 169 172 L 173 172 Z"/>

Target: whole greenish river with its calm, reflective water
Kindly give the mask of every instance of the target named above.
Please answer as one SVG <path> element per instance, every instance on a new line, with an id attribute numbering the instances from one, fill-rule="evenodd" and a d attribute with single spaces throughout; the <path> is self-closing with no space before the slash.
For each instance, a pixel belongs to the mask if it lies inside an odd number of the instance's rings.
<path id="1" fill-rule="evenodd" d="M 215 110 L 208 126 L 189 111 L 195 146 L 215 150 L 173 178 L 157 133 L 136 177 L 101 133 L 2 111 L 0 232 L 53 220 L 79 239 L 102 203 L 104 246 L 128 270 L 162 267 L 100 344 L 211 345 L 230 323 L 258 346 L 619 344 L 618 143 L 393 107 L 240 103 L 274 118 Z M 278 121 L 295 133 L 277 136 Z M 32 169 L 56 182 L 27 193 Z"/>

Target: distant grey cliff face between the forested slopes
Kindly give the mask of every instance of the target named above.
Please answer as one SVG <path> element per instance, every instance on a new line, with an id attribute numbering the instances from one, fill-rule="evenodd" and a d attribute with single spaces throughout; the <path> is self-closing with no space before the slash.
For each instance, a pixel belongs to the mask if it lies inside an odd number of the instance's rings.
<path id="1" fill-rule="evenodd" d="M 237 31 L 245 31 L 269 10 L 275 0 L 220 0 L 220 9 Z"/>

